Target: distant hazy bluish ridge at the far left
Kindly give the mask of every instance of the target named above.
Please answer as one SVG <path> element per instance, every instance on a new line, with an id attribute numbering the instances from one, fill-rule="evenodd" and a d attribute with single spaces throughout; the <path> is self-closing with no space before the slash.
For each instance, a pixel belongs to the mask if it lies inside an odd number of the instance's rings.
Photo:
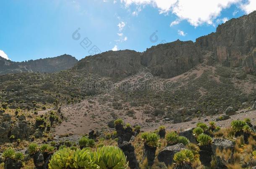
<path id="1" fill-rule="evenodd" d="M 22 72 L 54 73 L 72 68 L 77 62 L 76 58 L 66 54 L 26 62 L 13 62 L 0 57 L 0 75 Z"/>

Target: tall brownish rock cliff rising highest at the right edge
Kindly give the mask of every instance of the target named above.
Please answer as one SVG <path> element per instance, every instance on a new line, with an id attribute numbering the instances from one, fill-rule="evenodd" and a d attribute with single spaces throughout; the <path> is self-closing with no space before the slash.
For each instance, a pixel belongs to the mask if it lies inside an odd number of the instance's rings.
<path id="1" fill-rule="evenodd" d="M 214 59 L 225 66 L 256 73 L 256 11 L 219 25 L 216 33 L 197 38 L 196 45 L 214 51 Z"/>

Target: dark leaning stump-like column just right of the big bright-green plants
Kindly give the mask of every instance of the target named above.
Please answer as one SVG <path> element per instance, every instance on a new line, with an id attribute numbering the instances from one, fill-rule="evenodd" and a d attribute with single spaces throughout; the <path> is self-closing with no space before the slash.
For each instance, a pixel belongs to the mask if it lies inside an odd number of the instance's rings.
<path id="1" fill-rule="evenodd" d="M 127 161 L 129 161 L 129 167 L 131 169 L 139 169 L 139 164 L 134 152 L 134 146 L 131 143 L 124 141 L 123 144 L 120 145 L 120 149 L 127 157 Z"/>

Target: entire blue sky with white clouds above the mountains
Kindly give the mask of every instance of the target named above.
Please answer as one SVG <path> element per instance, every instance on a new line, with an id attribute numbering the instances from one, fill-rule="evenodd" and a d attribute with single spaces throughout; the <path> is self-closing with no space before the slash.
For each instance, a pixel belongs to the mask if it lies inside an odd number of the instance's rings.
<path id="1" fill-rule="evenodd" d="M 26 61 L 66 53 L 79 60 L 108 50 L 142 52 L 195 41 L 253 10 L 256 0 L 1 0 L 0 55 Z"/>

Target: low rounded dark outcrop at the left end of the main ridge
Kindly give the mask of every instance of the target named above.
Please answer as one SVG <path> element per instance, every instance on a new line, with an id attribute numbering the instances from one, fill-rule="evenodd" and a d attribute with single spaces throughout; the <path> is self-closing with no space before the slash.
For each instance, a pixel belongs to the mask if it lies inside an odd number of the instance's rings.
<path id="1" fill-rule="evenodd" d="M 108 51 L 81 59 L 73 69 L 101 76 L 127 77 L 142 67 L 140 55 L 134 50 Z"/>

